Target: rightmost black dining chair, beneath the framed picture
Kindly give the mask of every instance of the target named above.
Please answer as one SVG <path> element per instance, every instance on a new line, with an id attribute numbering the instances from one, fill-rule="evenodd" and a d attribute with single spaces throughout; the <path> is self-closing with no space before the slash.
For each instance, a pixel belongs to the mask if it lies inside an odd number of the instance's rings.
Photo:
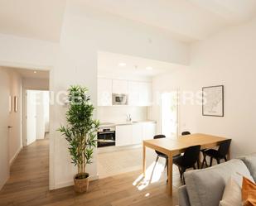
<path id="1" fill-rule="evenodd" d="M 218 150 L 210 149 L 210 150 L 203 151 L 204 160 L 203 160 L 201 168 L 203 168 L 204 165 L 207 166 L 207 161 L 206 161 L 207 156 L 210 157 L 210 166 L 212 166 L 212 160 L 213 159 L 215 159 L 218 164 L 220 164 L 220 160 L 227 161 L 226 156 L 229 153 L 230 144 L 231 144 L 231 140 L 222 141 L 220 143 L 220 146 L 219 146 Z"/>

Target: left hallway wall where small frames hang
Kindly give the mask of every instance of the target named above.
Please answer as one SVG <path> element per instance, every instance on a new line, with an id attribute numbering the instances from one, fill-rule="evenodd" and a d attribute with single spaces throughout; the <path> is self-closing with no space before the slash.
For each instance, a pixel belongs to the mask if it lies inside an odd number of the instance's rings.
<path id="1" fill-rule="evenodd" d="M 9 162 L 12 164 L 22 149 L 22 77 L 13 69 L 7 69 L 12 95 L 12 113 L 9 115 Z M 18 112 L 14 112 L 14 96 L 18 98 Z"/>

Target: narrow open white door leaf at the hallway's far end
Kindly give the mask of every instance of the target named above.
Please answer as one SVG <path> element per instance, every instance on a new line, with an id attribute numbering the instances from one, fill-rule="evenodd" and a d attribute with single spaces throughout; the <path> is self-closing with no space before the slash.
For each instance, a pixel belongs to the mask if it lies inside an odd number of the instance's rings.
<path id="1" fill-rule="evenodd" d="M 36 141 L 36 91 L 27 90 L 27 145 Z"/>

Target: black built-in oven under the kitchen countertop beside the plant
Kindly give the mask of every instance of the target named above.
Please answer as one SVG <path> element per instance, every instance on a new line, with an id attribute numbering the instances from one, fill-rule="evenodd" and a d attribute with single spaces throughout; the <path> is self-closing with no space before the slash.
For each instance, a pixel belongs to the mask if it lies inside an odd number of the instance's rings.
<path id="1" fill-rule="evenodd" d="M 115 128 L 103 127 L 98 132 L 98 147 L 115 146 Z"/>

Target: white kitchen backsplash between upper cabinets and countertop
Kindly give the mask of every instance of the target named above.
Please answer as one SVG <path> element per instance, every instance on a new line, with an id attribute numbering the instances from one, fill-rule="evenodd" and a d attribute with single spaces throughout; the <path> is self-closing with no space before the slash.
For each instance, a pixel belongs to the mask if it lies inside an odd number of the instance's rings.
<path id="1" fill-rule="evenodd" d="M 127 114 L 131 114 L 133 121 L 142 121 L 147 120 L 147 107 L 98 107 L 97 114 L 100 122 L 125 122 Z"/>

